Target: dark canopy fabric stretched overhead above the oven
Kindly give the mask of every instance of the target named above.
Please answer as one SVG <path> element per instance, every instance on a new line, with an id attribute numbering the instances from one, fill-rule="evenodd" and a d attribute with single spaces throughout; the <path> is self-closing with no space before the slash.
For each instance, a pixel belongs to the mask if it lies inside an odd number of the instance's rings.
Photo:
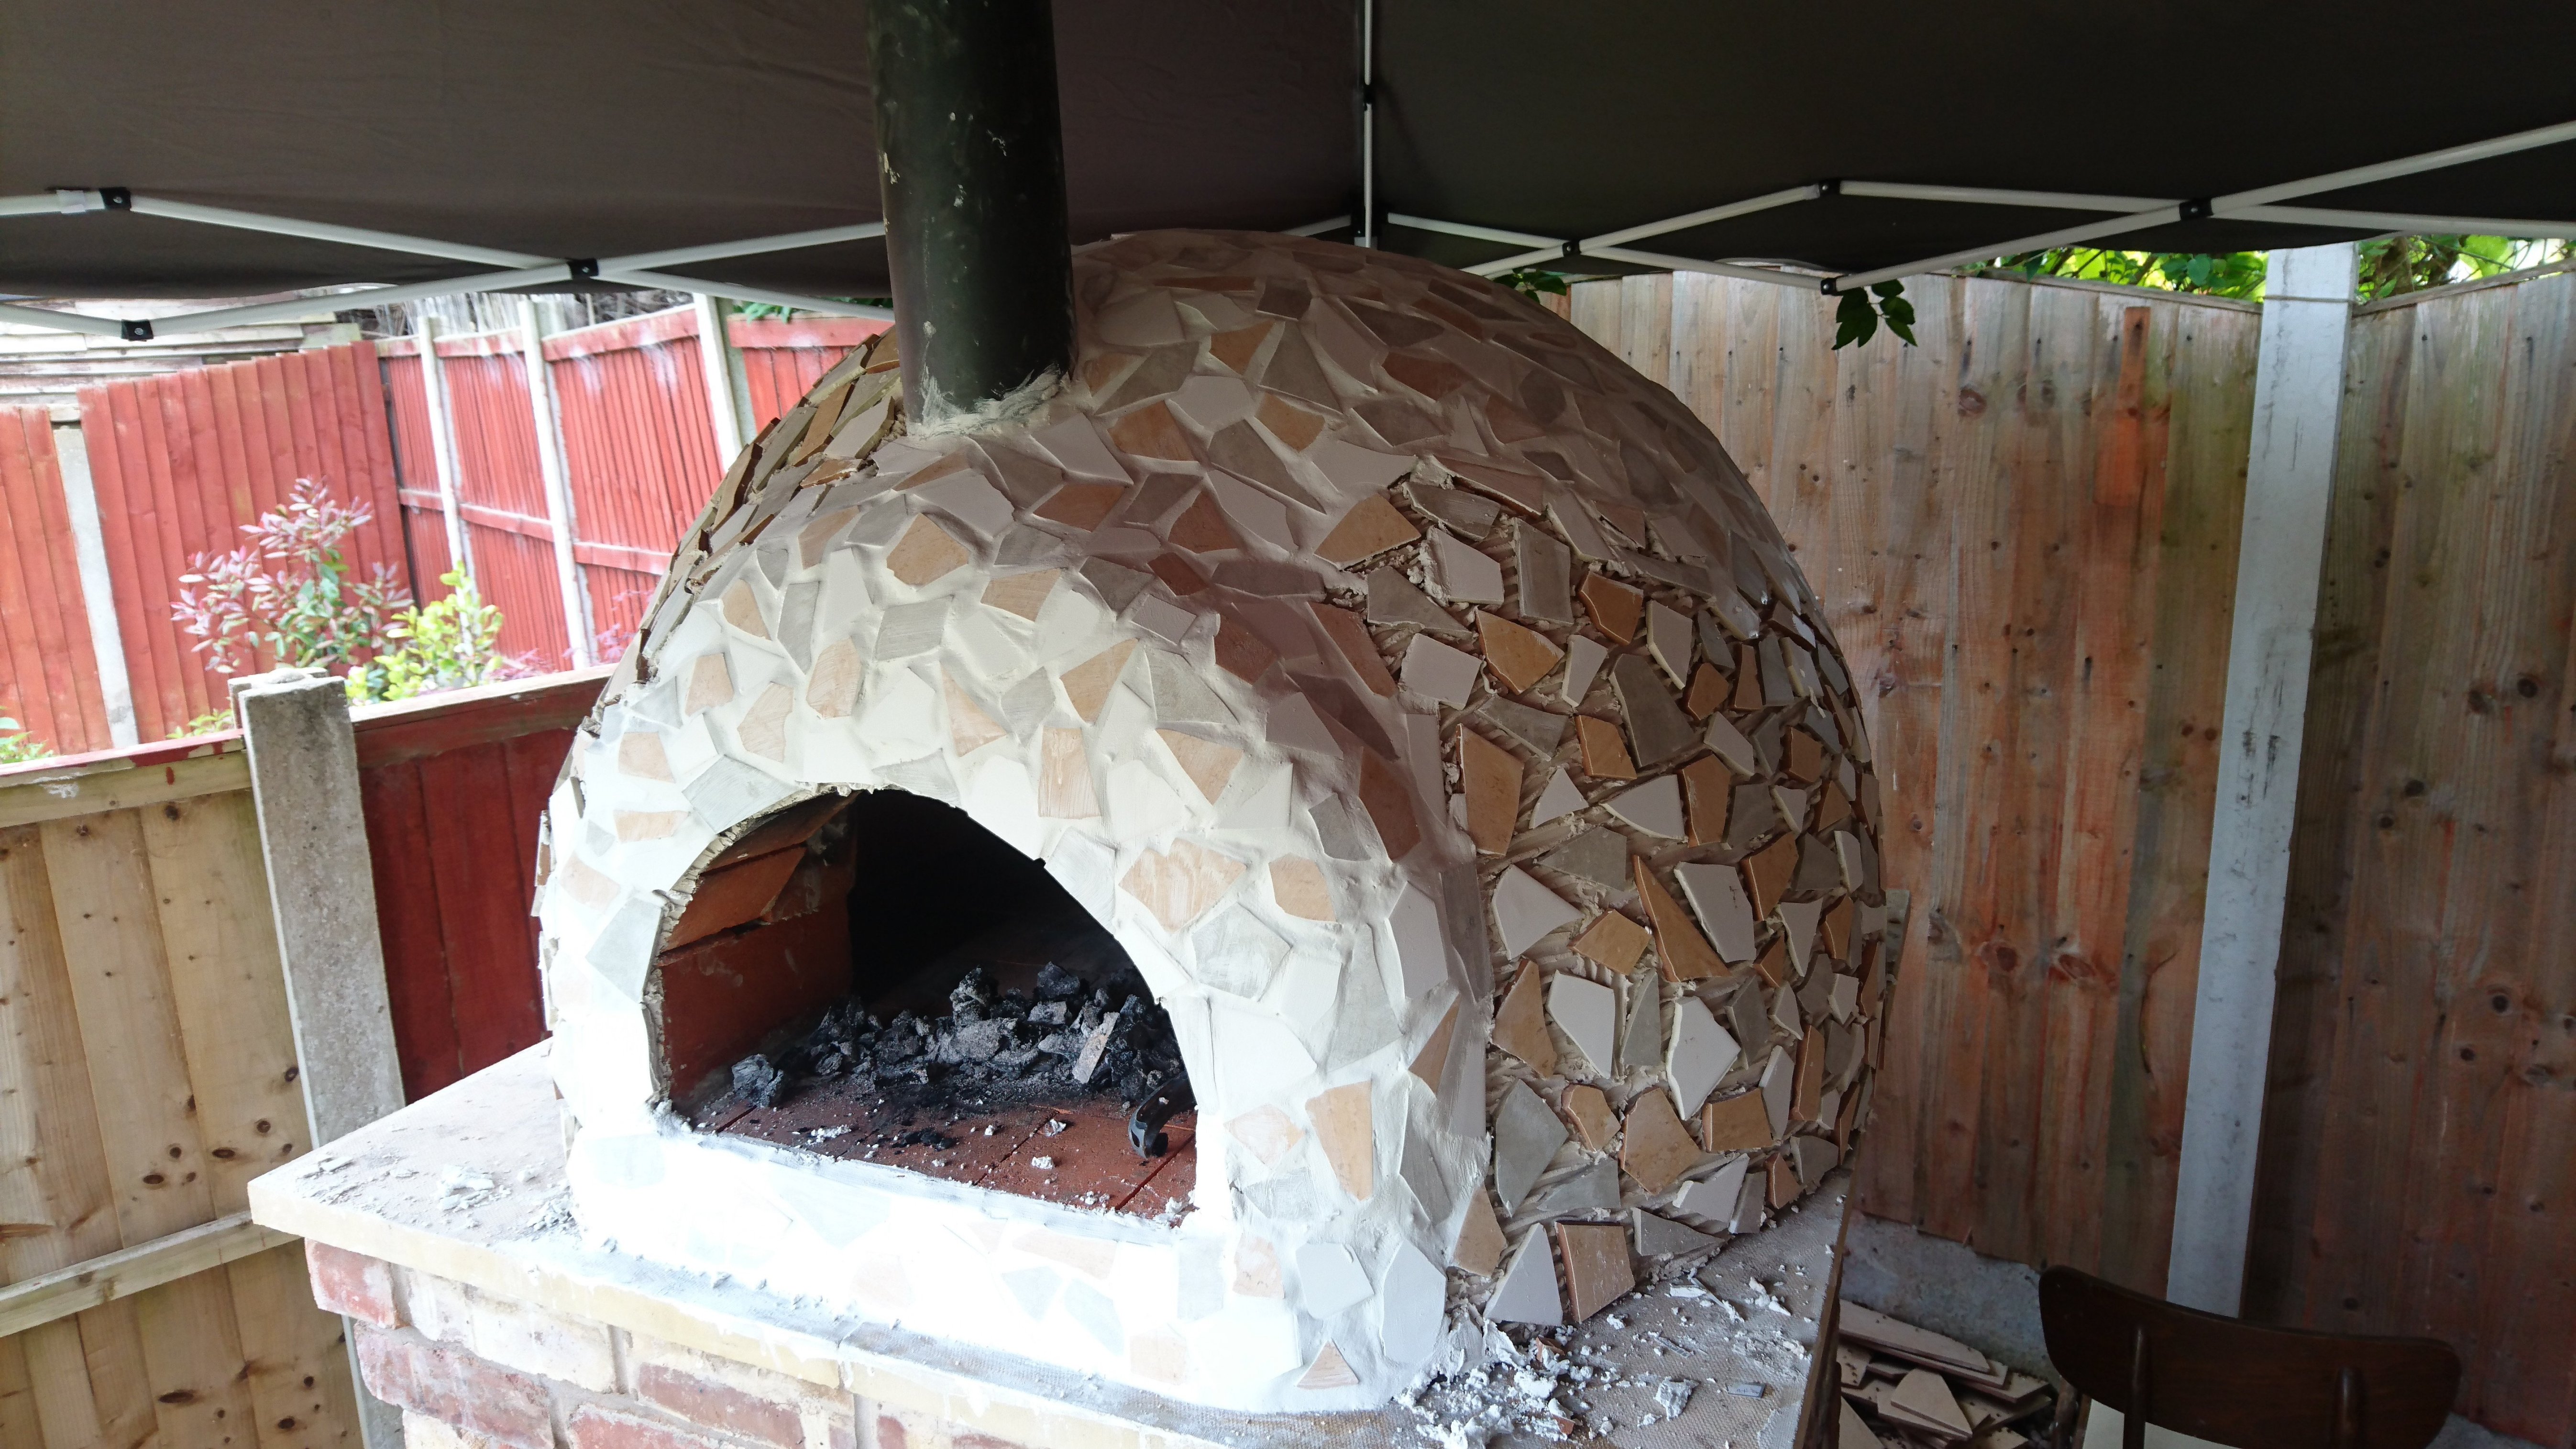
<path id="1" fill-rule="evenodd" d="M 1378 3 L 1378 204 L 1582 237 L 1824 178 L 2187 199 L 2576 121 L 2576 5 Z M 855 0 L 0 0 L 0 196 L 124 186 L 595 258 L 878 214 Z M 1358 199 L 1358 8 L 1061 0 L 1077 240 Z M 2576 219 L 2576 144 L 2303 206 Z M 2092 211 L 1824 199 L 1636 242 L 1865 271 Z M 2202 222 L 2172 250 L 2354 232 Z M 1450 263 L 1512 248 L 1388 229 Z M 0 219 L 0 291 L 489 271 L 134 217 Z M 881 294 L 873 242 L 685 268 Z"/>

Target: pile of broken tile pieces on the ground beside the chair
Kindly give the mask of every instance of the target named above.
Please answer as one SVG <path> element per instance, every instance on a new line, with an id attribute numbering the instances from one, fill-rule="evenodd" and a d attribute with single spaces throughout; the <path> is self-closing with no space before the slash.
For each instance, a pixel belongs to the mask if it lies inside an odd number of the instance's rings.
<path id="1" fill-rule="evenodd" d="M 1976 1348 L 1842 1299 L 1834 1382 L 1842 1449 L 2027 1449 L 2058 1392 Z"/>

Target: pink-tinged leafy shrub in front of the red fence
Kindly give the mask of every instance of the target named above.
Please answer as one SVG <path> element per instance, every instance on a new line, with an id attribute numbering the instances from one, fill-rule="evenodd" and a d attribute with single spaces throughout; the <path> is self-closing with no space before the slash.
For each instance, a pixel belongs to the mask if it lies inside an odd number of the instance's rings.
<path id="1" fill-rule="evenodd" d="M 343 508 L 299 477 L 283 505 L 242 523 L 247 544 L 188 559 L 170 616 L 196 634 L 214 673 L 260 660 L 350 673 L 384 652 L 392 614 L 412 603 L 384 565 L 368 580 L 348 578 L 340 541 L 371 518 L 366 503 Z"/>

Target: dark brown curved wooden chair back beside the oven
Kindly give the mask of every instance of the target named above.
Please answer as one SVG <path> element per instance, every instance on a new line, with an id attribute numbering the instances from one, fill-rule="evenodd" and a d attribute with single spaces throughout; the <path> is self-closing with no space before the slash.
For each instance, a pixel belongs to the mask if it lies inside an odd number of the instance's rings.
<path id="1" fill-rule="evenodd" d="M 2040 1328 L 2069 1387 L 2120 1410 L 2123 1449 L 2148 1423 L 2239 1449 L 2424 1449 L 2460 1392 L 2437 1338 L 2262 1328 L 2074 1269 L 2040 1274 Z"/>

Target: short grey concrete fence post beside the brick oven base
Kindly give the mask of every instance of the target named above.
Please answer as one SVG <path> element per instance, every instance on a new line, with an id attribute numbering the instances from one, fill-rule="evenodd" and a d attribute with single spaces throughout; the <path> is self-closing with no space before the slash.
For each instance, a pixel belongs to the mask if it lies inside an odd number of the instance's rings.
<path id="1" fill-rule="evenodd" d="M 358 810 L 358 737 L 348 724 L 348 688 L 327 673 L 234 678 L 232 706 L 250 753 L 296 1080 L 314 1147 L 322 1147 L 402 1106 L 376 877 Z M 366 1390 L 355 1330 L 348 1341 L 366 1446 L 399 1449 L 402 1410 Z"/>

